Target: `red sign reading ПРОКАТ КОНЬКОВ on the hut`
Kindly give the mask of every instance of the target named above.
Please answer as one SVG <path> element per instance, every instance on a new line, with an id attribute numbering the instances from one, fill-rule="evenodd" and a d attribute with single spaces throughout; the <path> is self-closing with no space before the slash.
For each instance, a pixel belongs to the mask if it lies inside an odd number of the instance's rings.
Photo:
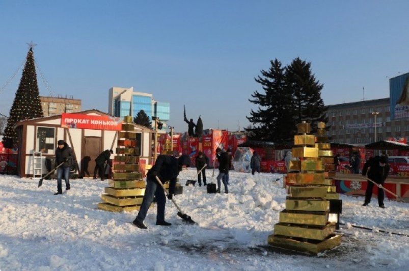
<path id="1" fill-rule="evenodd" d="M 119 117 L 63 113 L 61 127 L 121 131 L 122 121 Z"/>

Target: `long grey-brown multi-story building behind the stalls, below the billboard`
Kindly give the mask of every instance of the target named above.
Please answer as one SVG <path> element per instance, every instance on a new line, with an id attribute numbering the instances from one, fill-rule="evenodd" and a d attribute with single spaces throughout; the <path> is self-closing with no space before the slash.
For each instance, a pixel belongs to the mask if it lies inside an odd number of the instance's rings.
<path id="1" fill-rule="evenodd" d="M 409 136 L 409 118 L 391 120 L 390 98 L 330 105 L 327 135 L 332 142 L 367 144 Z M 407 140 L 409 141 L 409 140 Z"/>

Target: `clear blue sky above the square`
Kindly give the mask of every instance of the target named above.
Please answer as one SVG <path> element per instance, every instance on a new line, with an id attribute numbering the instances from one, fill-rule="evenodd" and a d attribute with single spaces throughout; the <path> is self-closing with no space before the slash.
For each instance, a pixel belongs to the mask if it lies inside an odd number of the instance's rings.
<path id="1" fill-rule="evenodd" d="M 0 2 L 0 87 L 27 42 L 54 95 L 107 112 L 108 89 L 134 87 L 171 104 L 169 124 L 237 130 L 256 108 L 260 70 L 277 58 L 312 63 L 326 105 L 389 97 L 409 71 L 409 1 L 19 1 Z M 40 95 L 48 95 L 40 72 Z M 9 115 L 21 70 L 0 93 Z"/>

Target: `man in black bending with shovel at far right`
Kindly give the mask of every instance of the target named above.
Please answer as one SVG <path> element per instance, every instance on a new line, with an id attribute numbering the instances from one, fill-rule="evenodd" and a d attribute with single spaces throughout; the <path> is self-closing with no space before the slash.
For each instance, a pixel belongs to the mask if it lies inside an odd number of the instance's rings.
<path id="1" fill-rule="evenodd" d="M 378 185 L 383 185 L 389 174 L 388 158 L 386 158 L 385 156 L 375 156 L 369 158 L 368 161 L 366 161 L 364 168 L 362 169 L 362 176 L 366 176 L 367 172 L 368 179 L 371 179 Z M 365 192 L 365 202 L 363 206 L 367 206 L 371 202 L 373 185 L 374 184 L 371 181 L 368 181 Z M 380 208 L 385 208 L 384 198 L 384 189 L 378 187 L 378 205 Z"/>

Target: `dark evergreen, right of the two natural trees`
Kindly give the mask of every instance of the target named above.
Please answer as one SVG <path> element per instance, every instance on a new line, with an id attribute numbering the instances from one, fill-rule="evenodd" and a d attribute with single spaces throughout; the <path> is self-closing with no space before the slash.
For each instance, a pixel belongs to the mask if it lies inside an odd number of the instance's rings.
<path id="1" fill-rule="evenodd" d="M 321 98 L 323 85 L 311 72 L 311 62 L 294 59 L 286 67 L 285 81 L 287 91 L 291 91 L 294 101 L 295 123 L 305 120 L 311 123 L 312 132 L 316 131 L 319 121 L 328 122 L 325 116 L 328 106 Z"/>

